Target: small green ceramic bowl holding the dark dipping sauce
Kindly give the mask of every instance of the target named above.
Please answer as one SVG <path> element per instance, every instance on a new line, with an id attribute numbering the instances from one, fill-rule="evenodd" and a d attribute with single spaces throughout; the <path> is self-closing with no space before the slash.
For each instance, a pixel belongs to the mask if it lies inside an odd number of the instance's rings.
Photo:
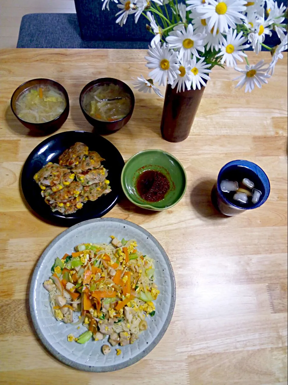
<path id="1" fill-rule="evenodd" d="M 136 190 L 136 181 L 146 170 L 162 172 L 170 182 L 170 189 L 159 202 L 142 199 Z M 145 150 L 133 155 L 125 164 L 121 174 L 122 189 L 126 197 L 136 206 L 161 211 L 178 203 L 185 194 L 187 176 L 182 164 L 173 155 L 162 150 Z"/>

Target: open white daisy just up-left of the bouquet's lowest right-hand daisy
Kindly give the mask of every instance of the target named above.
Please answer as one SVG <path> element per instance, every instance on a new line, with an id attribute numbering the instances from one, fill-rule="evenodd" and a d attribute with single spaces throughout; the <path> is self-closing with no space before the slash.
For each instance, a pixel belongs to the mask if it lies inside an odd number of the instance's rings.
<path id="1" fill-rule="evenodd" d="M 221 52 L 216 55 L 222 56 L 221 64 L 226 62 L 227 67 L 237 64 L 236 59 L 243 62 L 243 59 L 240 56 L 247 57 L 246 54 L 242 52 L 243 49 L 248 48 L 249 44 L 243 44 L 247 41 L 246 37 L 242 37 L 242 32 L 236 35 L 237 31 L 229 29 L 227 32 L 226 39 L 223 39 L 223 46 L 221 47 Z"/>

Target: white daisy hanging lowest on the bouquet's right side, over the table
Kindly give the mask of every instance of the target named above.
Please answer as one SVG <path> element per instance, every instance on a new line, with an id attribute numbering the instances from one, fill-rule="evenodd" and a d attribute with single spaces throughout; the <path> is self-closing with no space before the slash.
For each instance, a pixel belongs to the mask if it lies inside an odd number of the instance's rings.
<path id="1" fill-rule="evenodd" d="M 264 60 L 260 60 L 260 62 L 255 65 L 246 65 L 245 70 L 235 67 L 236 71 L 242 73 L 242 75 L 233 79 L 240 79 L 235 88 L 240 87 L 241 89 L 243 85 L 246 84 L 245 92 L 251 92 L 254 89 L 255 84 L 257 85 L 257 87 L 261 88 L 262 84 L 268 83 L 266 79 L 269 79 L 271 76 L 265 74 L 267 69 L 262 68 L 263 65 L 265 65 Z"/>

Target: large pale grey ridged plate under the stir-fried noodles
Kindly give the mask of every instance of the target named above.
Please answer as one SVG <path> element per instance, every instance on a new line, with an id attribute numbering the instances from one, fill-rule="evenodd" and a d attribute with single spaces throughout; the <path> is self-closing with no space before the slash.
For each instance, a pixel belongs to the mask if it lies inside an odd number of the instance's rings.
<path id="1" fill-rule="evenodd" d="M 147 317 L 148 328 L 132 345 L 122 346 L 122 354 L 116 348 L 103 355 L 101 347 L 108 343 L 90 340 L 81 345 L 68 342 L 67 335 L 78 336 L 87 329 L 56 321 L 51 314 L 48 292 L 43 282 L 51 276 L 51 266 L 57 256 L 71 253 L 79 243 L 109 243 L 110 235 L 118 239 L 136 239 L 138 249 L 155 261 L 155 283 L 160 294 L 155 301 L 156 314 Z M 126 368 L 145 357 L 161 340 L 171 321 L 175 305 L 175 278 L 172 266 L 161 244 L 137 224 L 118 218 L 90 219 L 72 226 L 56 237 L 41 255 L 32 276 L 30 286 L 30 311 L 38 336 L 46 348 L 60 361 L 71 367 L 90 372 L 111 372 Z M 74 315 L 76 321 L 76 315 Z"/>

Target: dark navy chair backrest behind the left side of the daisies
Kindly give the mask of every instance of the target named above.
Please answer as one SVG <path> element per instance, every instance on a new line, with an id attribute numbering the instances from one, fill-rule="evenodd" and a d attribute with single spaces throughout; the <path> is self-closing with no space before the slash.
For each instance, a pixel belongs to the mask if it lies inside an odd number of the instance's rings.
<path id="1" fill-rule="evenodd" d="M 137 24 L 134 15 L 129 15 L 123 27 L 116 24 L 116 13 L 120 11 L 113 0 L 109 3 L 110 10 L 102 10 L 101 0 L 74 0 L 83 40 L 117 40 L 150 42 L 151 32 L 146 30 L 148 20 L 140 16 Z M 115 47 L 116 48 L 116 47 Z"/>

